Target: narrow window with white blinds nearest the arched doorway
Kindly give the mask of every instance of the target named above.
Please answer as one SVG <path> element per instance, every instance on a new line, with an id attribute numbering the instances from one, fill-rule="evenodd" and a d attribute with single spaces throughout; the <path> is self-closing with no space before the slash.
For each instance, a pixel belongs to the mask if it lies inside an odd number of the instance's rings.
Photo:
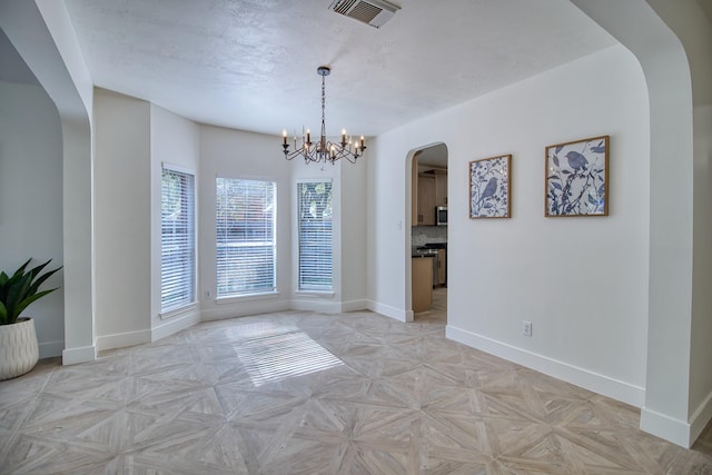
<path id="1" fill-rule="evenodd" d="M 299 182 L 299 290 L 332 290 L 332 182 Z"/>

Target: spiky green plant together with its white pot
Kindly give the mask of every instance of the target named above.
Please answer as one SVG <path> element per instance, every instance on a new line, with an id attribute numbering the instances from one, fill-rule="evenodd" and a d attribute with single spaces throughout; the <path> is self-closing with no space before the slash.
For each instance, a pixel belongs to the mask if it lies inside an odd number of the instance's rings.
<path id="1" fill-rule="evenodd" d="M 0 380 L 28 373 L 39 359 L 34 320 L 20 314 L 28 305 L 57 290 L 40 291 L 39 288 L 61 266 L 41 274 L 50 259 L 26 271 L 31 260 L 29 258 L 12 276 L 0 273 Z"/>

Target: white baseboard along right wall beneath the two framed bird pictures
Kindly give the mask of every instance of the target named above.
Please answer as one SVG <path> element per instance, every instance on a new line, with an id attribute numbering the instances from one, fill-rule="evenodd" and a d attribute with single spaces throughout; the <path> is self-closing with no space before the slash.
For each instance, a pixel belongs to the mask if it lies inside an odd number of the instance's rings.
<path id="1" fill-rule="evenodd" d="M 445 328 L 445 336 L 473 348 L 481 349 L 485 353 L 490 353 L 635 407 L 642 407 L 645 400 L 645 389 L 642 387 L 600 375 L 526 349 L 517 348 L 506 343 L 497 342 L 452 325 L 448 325 Z"/>

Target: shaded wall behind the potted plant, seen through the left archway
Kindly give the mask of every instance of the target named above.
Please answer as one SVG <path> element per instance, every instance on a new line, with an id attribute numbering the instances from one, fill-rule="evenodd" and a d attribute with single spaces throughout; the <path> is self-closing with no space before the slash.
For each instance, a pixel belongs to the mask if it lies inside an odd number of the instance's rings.
<path id="1" fill-rule="evenodd" d="M 13 273 L 62 258 L 62 130 L 59 113 L 39 86 L 0 82 L 0 269 Z M 62 287 L 62 273 L 41 288 Z M 34 318 L 40 357 L 65 347 L 63 291 L 33 303 L 22 314 Z"/>

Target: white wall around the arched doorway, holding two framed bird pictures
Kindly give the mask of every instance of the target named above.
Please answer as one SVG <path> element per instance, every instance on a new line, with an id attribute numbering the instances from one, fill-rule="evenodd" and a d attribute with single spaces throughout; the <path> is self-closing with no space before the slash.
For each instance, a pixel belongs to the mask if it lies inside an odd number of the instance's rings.
<path id="1" fill-rule="evenodd" d="M 369 169 L 368 297 L 405 313 L 409 150 L 448 147 L 449 337 L 641 406 L 647 331 L 649 110 L 614 47 L 382 135 Z M 544 147 L 611 136 L 610 216 L 544 218 Z M 513 154 L 512 219 L 469 220 L 468 161 Z M 459 171 L 458 171 L 459 170 Z M 395 177 L 399 177 L 396 179 Z M 375 206 L 375 204 L 378 206 Z M 521 335 L 522 320 L 534 336 Z"/>

